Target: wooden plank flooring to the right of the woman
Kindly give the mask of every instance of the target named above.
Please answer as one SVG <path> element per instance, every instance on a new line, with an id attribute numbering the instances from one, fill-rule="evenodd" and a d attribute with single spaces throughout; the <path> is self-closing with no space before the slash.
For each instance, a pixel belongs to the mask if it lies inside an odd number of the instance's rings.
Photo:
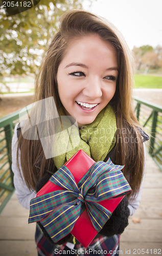
<path id="1" fill-rule="evenodd" d="M 130 255 L 142 255 L 142 249 L 143 255 L 158 254 L 156 249 L 162 254 L 162 172 L 148 154 L 145 172 L 140 207 L 121 236 L 122 255 L 129 254 L 125 253 L 126 249 L 130 249 Z M 138 219 L 140 222 L 133 222 Z"/>

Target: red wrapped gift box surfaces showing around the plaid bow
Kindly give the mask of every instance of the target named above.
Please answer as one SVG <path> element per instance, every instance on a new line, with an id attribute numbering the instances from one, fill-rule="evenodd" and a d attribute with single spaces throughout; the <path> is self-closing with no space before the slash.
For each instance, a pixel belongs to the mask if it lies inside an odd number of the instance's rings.
<path id="1" fill-rule="evenodd" d="M 82 177 L 86 174 L 89 168 L 95 163 L 84 151 L 79 150 L 70 160 L 68 160 L 64 165 L 73 174 L 76 183 L 78 183 Z M 63 188 L 58 185 L 53 184 L 48 181 L 37 193 L 36 197 L 42 196 L 44 194 L 50 193 L 56 190 L 63 190 Z M 109 211 L 113 212 L 118 206 L 124 196 L 101 201 L 100 204 L 107 208 Z M 87 247 L 91 241 L 96 237 L 97 230 L 92 225 L 90 218 L 88 216 L 87 210 L 85 209 L 79 219 L 76 221 L 73 230 L 71 231 L 73 236 L 84 246 Z"/>

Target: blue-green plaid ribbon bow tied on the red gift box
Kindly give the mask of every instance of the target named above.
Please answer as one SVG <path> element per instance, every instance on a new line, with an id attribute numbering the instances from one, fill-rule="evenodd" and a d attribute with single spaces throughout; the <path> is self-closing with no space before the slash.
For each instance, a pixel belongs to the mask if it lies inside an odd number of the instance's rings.
<path id="1" fill-rule="evenodd" d="M 76 184 L 70 170 L 63 165 L 50 178 L 62 190 L 32 199 L 29 223 L 41 221 L 56 243 L 72 231 L 86 208 L 92 225 L 99 232 L 112 214 L 100 205 L 100 201 L 124 196 L 131 191 L 121 172 L 123 167 L 114 165 L 110 159 L 106 163 L 95 162 Z"/>

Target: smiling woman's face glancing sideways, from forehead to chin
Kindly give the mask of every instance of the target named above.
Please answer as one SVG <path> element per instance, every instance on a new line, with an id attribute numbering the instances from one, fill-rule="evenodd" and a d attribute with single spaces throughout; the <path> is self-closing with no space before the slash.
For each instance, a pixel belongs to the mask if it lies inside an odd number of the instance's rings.
<path id="1" fill-rule="evenodd" d="M 112 99 L 118 77 L 115 48 L 97 34 L 73 39 L 58 67 L 58 93 L 78 126 L 91 123 Z"/>

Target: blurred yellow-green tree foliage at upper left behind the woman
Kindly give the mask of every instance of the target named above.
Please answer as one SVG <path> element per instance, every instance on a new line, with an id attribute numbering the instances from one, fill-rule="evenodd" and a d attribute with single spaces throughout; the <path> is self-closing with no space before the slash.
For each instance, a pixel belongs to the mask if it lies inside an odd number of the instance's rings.
<path id="1" fill-rule="evenodd" d="M 9 17 L 1 9 L 0 76 L 35 74 L 58 30 L 60 15 L 68 9 L 82 8 L 81 3 L 82 0 L 41 0 L 32 9 Z"/>

